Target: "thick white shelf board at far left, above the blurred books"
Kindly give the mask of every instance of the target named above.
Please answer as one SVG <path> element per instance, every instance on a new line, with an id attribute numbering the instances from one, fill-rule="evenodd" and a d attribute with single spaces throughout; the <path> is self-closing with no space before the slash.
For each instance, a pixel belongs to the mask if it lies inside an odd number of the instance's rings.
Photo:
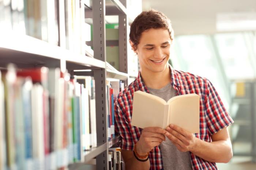
<path id="1" fill-rule="evenodd" d="M 63 50 L 48 42 L 13 32 L 0 33 L 0 60 L 1 66 L 14 63 L 20 67 L 35 65 L 52 65 L 60 67 Z"/>

